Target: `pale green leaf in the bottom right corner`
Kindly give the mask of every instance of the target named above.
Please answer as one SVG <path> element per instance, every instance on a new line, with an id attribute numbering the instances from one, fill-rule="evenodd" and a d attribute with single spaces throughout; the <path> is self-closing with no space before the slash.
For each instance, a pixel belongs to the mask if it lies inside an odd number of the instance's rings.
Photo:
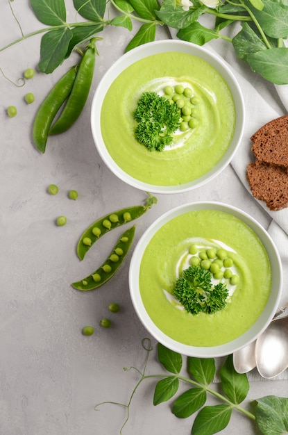
<path id="1" fill-rule="evenodd" d="M 257 400 L 256 422 L 264 435 L 288 432 L 288 398 L 269 395 Z"/>

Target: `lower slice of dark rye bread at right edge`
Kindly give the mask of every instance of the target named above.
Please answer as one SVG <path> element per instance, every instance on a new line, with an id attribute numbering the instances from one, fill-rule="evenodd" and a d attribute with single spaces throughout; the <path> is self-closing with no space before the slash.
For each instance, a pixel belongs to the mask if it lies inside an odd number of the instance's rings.
<path id="1" fill-rule="evenodd" d="M 271 211 L 288 207 L 288 172 L 286 167 L 260 161 L 249 163 L 247 179 L 253 197 L 266 202 Z"/>

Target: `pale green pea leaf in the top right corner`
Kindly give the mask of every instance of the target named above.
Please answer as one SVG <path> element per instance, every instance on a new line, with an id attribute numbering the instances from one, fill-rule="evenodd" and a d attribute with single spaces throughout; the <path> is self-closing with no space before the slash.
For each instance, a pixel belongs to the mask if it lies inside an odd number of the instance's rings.
<path id="1" fill-rule="evenodd" d="M 262 10 L 252 10 L 266 35 L 271 38 L 287 38 L 288 6 L 274 0 L 265 0 Z"/>

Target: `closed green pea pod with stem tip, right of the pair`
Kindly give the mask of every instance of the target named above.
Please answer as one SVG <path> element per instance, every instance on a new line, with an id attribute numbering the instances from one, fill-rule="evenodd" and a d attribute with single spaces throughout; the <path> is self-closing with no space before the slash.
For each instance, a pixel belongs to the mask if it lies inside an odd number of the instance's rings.
<path id="1" fill-rule="evenodd" d="M 92 38 L 87 45 L 71 93 L 58 120 L 51 127 L 49 134 L 64 133 L 81 115 L 92 85 L 95 54 L 97 53 L 95 46 L 96 39 Z"/>

